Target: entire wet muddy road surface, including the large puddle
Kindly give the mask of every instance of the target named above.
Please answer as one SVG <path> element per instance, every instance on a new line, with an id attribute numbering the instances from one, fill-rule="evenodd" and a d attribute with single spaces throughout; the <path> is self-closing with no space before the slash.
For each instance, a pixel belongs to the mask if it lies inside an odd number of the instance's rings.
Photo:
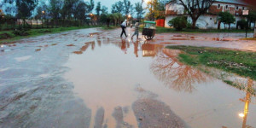
<path id="1" fill-rule="evenodd" d="M 255 41 L 241 41 L 237 33 L 132 41 L 119 38 L 119 31 L 84 29 L 1 45 L 0 127 L 256 127 L 254 96 L 165 49 L 256 51 Z"/>

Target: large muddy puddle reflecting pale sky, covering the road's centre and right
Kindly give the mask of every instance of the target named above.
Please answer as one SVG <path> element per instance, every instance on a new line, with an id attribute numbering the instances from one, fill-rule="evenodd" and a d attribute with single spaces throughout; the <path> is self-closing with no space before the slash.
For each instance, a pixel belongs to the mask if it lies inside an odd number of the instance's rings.
<path id="1" fill-rule="evenodd" d="M 177 61 L 178 50 L 108 34 L 91 34 L 65 64 L 65 78 L 91 109 L 90 127 L 146 127 L 144 119 L 168 122 L 172 114 L 185 127 L 256 126 L 256 99 L 249 93 Z M 145 106 L 137 106 L 142 100 Z M 163 111 L 147 117 L 158 108 Z"/>

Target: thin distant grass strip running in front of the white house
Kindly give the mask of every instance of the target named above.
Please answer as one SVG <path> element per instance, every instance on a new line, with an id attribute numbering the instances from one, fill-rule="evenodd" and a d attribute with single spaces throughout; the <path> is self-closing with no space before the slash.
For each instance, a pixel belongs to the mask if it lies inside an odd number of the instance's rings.
<path id="1" fill-rule="evenodd" d="M 143 32 L 143 27 L 140 27 L 140 32 Z M 166 33 L 166 32 L 180 32 L 180 33 L 218 33 L 218 32 L 246 32 L 245 30 L 236 30 L 236 29 L 230 29 L 230 30 L 218 30 L 218 29 L 183 29 L 183 31 L 176 31 L 173 28 L 166 28 L 166 27 L 156 27 L 156 33 Z M 250 30 L 248 32 L 253 32 L 253 30 Z"/>

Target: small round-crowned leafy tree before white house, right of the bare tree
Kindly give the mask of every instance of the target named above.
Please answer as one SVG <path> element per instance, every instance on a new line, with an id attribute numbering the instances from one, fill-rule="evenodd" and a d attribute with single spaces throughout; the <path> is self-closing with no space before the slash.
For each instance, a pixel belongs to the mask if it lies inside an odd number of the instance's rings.
<path id="1" fill-rule="evenodd" d="M 229 25 L 229 29 L 230 29 L 230 24 L 236 21 L 234 15 L 231 15 L 229 12 L 218 13 L 218 20 L 224 23 L 224 29 L 226 29 L 226 25 Z"/>

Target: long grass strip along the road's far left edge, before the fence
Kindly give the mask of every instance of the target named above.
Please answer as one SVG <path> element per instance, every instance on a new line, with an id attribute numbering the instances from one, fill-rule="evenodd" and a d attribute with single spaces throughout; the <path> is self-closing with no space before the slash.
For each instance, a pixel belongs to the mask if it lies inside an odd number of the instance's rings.
<path id="1" fill-rule="evenodd" d="M 14 42 L 15 40 L 19 40 L 21 38 L 30 38 L 30 37 L 40 36 L 40 35 L 44 35 L 44 34 L 49 34 L 49 33 L 67 32 L 67 31 L 71 31 L 71 30 L 93 28 L 93 27 L 102 27 L 103 30 L 111 30 L 111 29 L 117 28 L 118 26 L 110 26 L 110 27 L 108 27 L 108 26 L 71 26 L 71 27 L 59 27 L 59 28 L 30 29 L 28 31 L 28 33 L 29 33 L 28 36 L 16 36 L 13 33 L 13 31 L 1 31 L 0 35 L 3 33 L 6 33 L 9 35 L 9 38 L 1 39 L 3 37 L 0 36 L 0 44 L 11 43 L 11 42 Z"/>

